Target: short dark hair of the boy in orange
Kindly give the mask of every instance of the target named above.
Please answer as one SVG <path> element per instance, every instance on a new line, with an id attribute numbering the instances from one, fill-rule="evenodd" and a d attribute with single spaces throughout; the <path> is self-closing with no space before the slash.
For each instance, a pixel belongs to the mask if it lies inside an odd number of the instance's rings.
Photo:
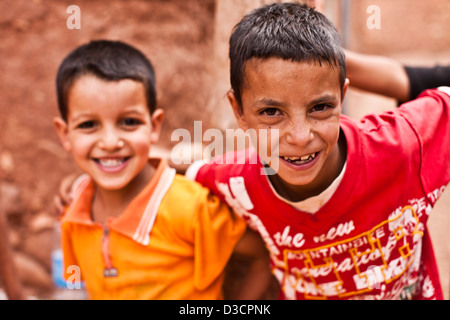
<path id="1" fill-rule="evenodd" d="M 86 74 L 107 81 L 131 79 L 141 82 L 145 88 L 150 114 L 155 110 L 155 72 L 151 62 L 142 52 L 121 41 L 95 40 L 72 51 L 58 69 L 58 108 L 65 121 L 70 88 L 75 80 Z"/>

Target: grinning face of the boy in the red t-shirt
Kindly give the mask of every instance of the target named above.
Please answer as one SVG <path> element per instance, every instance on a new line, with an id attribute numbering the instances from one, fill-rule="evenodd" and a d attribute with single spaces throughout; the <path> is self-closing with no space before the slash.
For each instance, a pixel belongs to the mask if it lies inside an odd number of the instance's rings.
<path id="1" fill-rule="evenodd" d="M 343 94 L 347 87 L 348 80 Z M 246 62 L 242 108 L 233 93 L 228 98 L 243 130 L 279 130 L 277 175 L 270 178 L 282 196 L 299 201 L 316 195 L 341 171 L 343 94 L 338 69 L 327 64 L 280 58 Z"/>

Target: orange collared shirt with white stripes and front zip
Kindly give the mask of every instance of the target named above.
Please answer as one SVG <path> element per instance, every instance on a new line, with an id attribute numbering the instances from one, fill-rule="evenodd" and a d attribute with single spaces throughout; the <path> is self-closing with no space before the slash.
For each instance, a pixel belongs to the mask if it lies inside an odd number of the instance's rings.
<path id="1" fill-rule="evenodd" d="M 223 270 L 244 220 L 160 160 L 117 218 L 92 221 L 93 181 L 79 180 L 62 219 L 65 278 L 74 268 L 91 299 L 221 299 Z"/>

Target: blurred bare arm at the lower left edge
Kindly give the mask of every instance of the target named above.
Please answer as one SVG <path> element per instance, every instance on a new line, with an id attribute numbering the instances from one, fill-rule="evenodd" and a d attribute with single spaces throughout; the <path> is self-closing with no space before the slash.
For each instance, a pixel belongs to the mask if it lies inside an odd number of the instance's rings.
<path id="1" fill-rule="evenodd" d="M 14 267 L 12 250 L 8 240 L 6 217 L 0 211 L 0 279 L 5 285 L 6 294 L 10 300 L 24 299 L 22 286 Z"/>

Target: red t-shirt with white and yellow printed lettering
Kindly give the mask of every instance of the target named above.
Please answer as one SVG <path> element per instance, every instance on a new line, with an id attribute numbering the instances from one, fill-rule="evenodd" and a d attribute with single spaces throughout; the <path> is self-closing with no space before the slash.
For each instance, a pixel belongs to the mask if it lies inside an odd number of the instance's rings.
<path id="1" fill-rule="evenodd" d="M 449 113 L 450 97 L 428 90 L 395 111 L 343 115 L 346 171 L 315 214 L 273 193 L 253 149 L 188 175 L 261 234 L 281 298 L 443 299 L 426 223 L 450 181 Z"/>

